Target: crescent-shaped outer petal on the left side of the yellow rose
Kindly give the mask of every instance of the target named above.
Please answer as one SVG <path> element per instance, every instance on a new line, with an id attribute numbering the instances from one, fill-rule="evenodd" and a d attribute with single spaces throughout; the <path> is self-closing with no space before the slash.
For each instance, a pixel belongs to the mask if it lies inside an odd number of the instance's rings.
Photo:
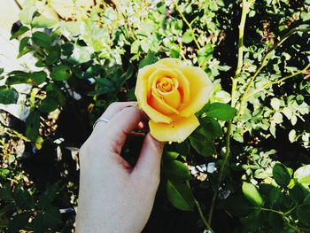
<path id="1" fill-rule="evenodd" d="M 143 109 L 143 111 L 155 122 L 165 122 L 169 123 L 171 119 L 162 113 L 159 113 L 154 108 L 152 108 L 147 102 L 147 87 L 148 78 L 151 73 L 156 69 L 156 66 L 144 66 L 143 69 L 139 71 L 136 80 L 135 95 L 138 101 L 138 105 Z"/>

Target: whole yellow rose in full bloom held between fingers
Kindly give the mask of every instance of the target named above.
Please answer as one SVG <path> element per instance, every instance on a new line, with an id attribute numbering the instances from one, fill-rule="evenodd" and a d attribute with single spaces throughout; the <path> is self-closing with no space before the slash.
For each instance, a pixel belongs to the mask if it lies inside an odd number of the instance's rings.
<path id="1" fill-rule="evenodd" d="M 151 119 L 151 135 L 161 142 L 181 143 L 198 128 L 195 113 L 212 91 L 213 84 L 201 68 L 164 58 L 139 70 L 135 95 Z"/>

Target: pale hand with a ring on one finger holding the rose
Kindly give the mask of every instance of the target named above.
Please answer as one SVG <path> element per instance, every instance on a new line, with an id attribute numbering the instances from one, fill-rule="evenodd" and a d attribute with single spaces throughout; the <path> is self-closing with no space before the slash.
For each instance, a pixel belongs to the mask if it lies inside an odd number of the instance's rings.
<path id="1" fill-rule="evenodd" d="M 80 193 L 76 230 L 126 232 L 143 230 L 159 186 L 163 144 L 145 136 L 135 167 L 120 157 L 127 136 L 141 125 L 135 102 L 110 105 L 80 150 Z"/>

